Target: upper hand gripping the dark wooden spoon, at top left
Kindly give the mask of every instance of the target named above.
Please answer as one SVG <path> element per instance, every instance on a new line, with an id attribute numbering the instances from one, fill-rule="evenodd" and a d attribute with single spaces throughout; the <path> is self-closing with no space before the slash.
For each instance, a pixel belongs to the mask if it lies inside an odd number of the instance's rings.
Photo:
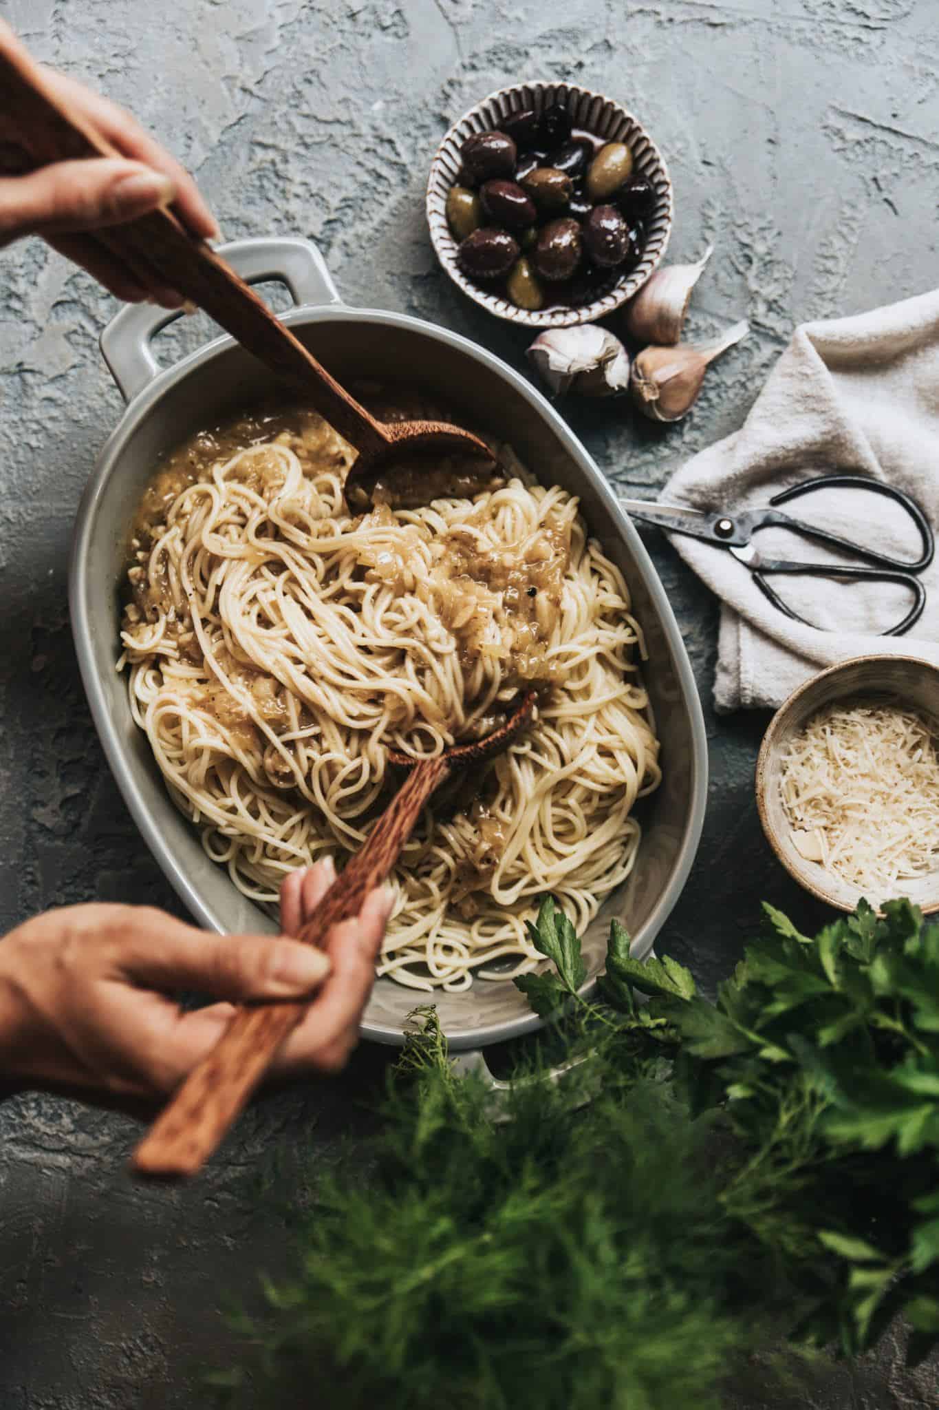
<path id="1" fill-rule="evenodd" d="M 82 83 L 39 68 L 8 24 L 0 20 L 0 55 L 38 69 L 53 99 L 77 113 L 121 155 L 56 162 L 23 176 L 0 176 L 0 247 L 20 235 L 42 235 L 128 303 L 155 299 L 177 309 L 183 299 L 163 285 L 145 286 L 93 231 L 120 226 L 170 206 L 194 235 L 218 237 L 218 226 L 198 189 L 158 142 L 121 107 Z M 1 102 L 1 99 L 0 99 Z"/>

